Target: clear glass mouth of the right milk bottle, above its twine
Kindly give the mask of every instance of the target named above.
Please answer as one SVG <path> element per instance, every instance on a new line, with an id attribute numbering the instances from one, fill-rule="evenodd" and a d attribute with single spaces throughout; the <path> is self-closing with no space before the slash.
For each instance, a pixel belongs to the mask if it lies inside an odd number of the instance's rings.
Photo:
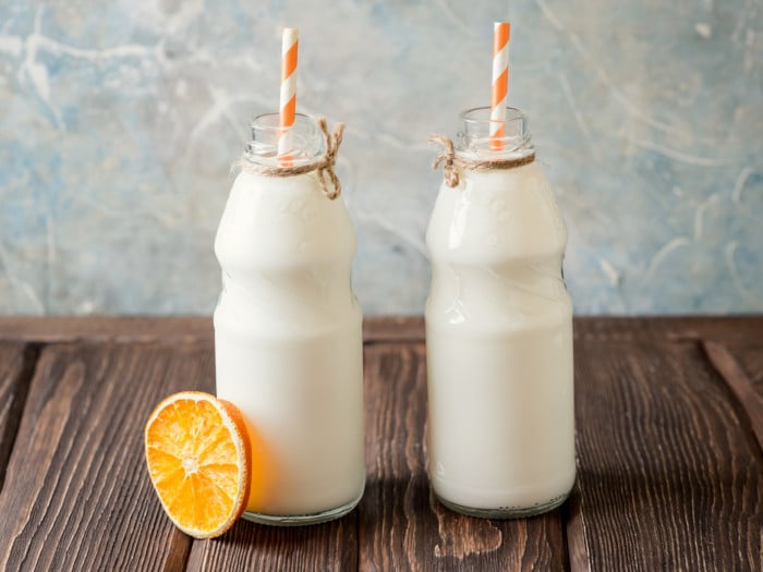
<path id="1" fill-rule="evenodd" d="M 462 155 L 476 156 L 480 159 L 508 159 L 526 157 L 535 153 L 528 118 L 519 109 L 506 108 L 506 119 L 491 119 L 489 107 L 475 107 L 461 113 L 464 130 L 457 136 L 458 150 Z M 491 136 L 495 127 L 502 124 L 504 134 Z"/>

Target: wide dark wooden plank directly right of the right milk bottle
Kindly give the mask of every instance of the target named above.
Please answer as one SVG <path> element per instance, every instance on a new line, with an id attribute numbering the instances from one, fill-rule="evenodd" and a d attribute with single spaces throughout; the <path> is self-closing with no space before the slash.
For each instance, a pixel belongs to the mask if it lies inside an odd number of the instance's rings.
<path id="1" fill-rule="evenodd" d="M 583 340 L 576 381 L 581 568 L 755 570 L 763 459 L 699 346 Z"/>

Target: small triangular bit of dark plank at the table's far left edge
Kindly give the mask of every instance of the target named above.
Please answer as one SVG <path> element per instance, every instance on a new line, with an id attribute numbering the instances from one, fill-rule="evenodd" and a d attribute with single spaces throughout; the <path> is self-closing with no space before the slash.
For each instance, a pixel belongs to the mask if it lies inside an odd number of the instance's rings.
<path id="1" fill-rule="evenodd" d="M 0 343 L 0 490 L 16 438 L 36 351 L 21 343 Z"/>

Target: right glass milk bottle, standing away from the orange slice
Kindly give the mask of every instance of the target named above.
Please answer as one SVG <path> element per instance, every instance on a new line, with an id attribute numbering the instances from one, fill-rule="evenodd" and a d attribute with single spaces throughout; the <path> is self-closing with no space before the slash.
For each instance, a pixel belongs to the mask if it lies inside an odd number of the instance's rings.
<path id="1" fill-rule="evenodd" d="M 576 474 L 572 305 L 561 216 L 526 119 L 507 109 L 495 150 L 489 108 L 438 162 L 426 233 L 428 471 L 440 501 L 474 516 L 561 504 Z"/>

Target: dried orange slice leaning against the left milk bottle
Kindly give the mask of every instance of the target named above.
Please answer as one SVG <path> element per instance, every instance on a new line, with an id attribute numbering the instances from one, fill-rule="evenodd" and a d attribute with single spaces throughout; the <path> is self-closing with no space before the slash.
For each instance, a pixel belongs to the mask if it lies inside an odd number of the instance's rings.
<path id="1" fill-rule="evenodd" d="M 152 484 L 178 528 L 213 538 L 241 516 L 252 448 L 235 405 L 201 391 L 170 395 L 148 417 L 145 447 Z"/>

